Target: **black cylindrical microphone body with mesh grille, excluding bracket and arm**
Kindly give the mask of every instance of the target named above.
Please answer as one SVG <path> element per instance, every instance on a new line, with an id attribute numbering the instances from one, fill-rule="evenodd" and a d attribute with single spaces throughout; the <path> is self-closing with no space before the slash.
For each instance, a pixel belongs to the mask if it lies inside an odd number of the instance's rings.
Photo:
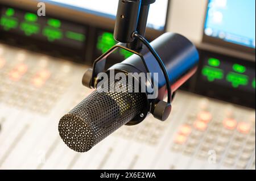
<path id="1" fill-rule="evenodd" d="M 187 38 L 176 33 L 164 33 L 150 44 L 162 58 L 170 79 L 171 90 L 175 92 L 197 69 L 199 53 Z M 108 80 L 108 87 L 102 84 L 73 110 L 60 119 L 59 133 L 69 148 L 85 152 L 109 136 L 122 125 L 134 125 L 143 121 L 149 113 L 157 119 L 166 120 L 169 110 L 165 110 L 161 100 L 167 96 L 167 83 L 163 71 L 150 52 L 144 52 L 144 61 L 133 55 L 125 61 L 113 65 L 110 73 L 158 73 L 158 96 L 149 99 L 146 92 L 136 92 L 134 83 Z M 146 66 L 145 66 L 146 64 Z M 152 75 L 152 79 L 154 79 Z M 86 80 L 84 79 L 86 82 Z M 140 82 L 134 77 L 134 81 Z M 154 80 L 153 80 L 154 81 Z M 146 83 L 147 84 L 147 83 Z M 125 91 L 110 91 L 110 87 Z M 148 85 L 142 85 L 148 86 Z M 167 112 L 165 115 L 164 112 Z"/>

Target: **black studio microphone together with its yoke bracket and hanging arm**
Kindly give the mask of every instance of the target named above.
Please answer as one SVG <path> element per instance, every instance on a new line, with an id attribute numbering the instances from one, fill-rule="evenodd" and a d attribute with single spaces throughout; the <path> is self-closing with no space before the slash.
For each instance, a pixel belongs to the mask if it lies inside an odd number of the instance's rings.
<path id="1" fill-rule="evenodd" d="M 60 119 L 60 137 L 69 148 L 79 152 L 88 151 L 122 125 L 141 123 L 149 113 L 156 119 L 166 120 L 171 113 L 174 92 L 195 74 L 199 53 L 187 38 L 170 32 L 151 43 L 144 38 L 149 6 L 154 2 L 155 0 L 119 0 L 114 38 L 120 43 L 98 57 L 93 68 L 85 72 L 82 84 L 90 89 L 97 89 Z M 106 70 L 108 56 L 118 48 L 134 55 Z M 127 76 L 129 73 L 133 75 L 136 84 L 124 87 L 131 90 L 131 93 L 109 91 L 110 85 L 122 87 L 122 83 L 120 85 L 112 78 L 109 79 L 108 87 L 98 86 L 101 81 L 98 74 L 105 72 L 109 75 L 112 70 Z M 156 73 L 158 78 L 151 74 L 143 82 L 133 73 Z M 155 81 L 158 84 L 157 90 Z M 146 92 L 134 92 L 134 85 L 137 83 L 139 86 L 146 86 Z M 153 92 L 151 88 L 154 88 Z M 155 97 L 150 98 L 151 94 Z M 163 101 L 166 96 L 168 102 Z"/>

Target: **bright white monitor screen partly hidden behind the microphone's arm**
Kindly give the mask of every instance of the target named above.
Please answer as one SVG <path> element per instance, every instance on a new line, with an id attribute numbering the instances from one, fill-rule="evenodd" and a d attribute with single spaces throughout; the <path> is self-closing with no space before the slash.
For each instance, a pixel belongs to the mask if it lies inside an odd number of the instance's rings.
<path id="1" fill-rule="evenodd" d="M 44 2 L 112 19 L 115 19 L 118 7 L 118 0 L 44 0 Z M 163 31 L 166 26 L 167 9 L 168 0 L 156 1 L 152 4 L 150 6 L 150 14 L 148 15 L 147 27 Z"/>

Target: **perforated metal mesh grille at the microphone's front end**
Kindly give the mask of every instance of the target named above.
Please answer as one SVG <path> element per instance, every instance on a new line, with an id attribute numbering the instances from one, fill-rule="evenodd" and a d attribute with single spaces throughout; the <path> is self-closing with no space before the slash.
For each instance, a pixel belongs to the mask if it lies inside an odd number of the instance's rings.
<path id="1" fill-rule="evenodd" d="M 113 83 L 119 87 L 118 91 L 111 92 L 102 86 L 61 118 L 60 137 L 69 148 L 88 151 L 142 112 L 147 103 L 146 96 L 129 93 L 128 90 L 134 90 L 134 87 L 128 84 Z"/>

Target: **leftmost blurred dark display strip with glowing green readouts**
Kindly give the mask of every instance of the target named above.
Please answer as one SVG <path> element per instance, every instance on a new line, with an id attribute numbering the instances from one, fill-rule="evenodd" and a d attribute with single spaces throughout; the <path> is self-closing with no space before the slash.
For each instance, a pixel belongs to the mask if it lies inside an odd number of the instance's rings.
<path id="1" fill-rule="evenodd" d="M 11 7 L 1 9 L 0 30 L 72 48 L 84 48 L 86 41 L 84 26 L 48 16 L 38 16 L 36 13 L 23 12 Z"/>

